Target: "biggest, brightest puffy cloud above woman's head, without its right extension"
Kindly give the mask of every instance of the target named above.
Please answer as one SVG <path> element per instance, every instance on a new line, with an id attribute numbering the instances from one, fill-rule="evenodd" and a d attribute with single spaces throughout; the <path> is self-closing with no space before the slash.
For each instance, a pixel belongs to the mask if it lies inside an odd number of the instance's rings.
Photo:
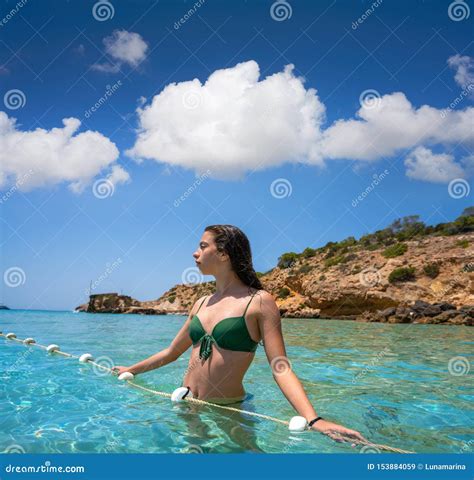
<path id="1" fill-rule="evenodd" d="M 259 81 L 254 61 L 168 85 L 138 108 L 140 131 L 127 153 L 171 165 L 210 169 L 215 178 L 285 161 L 321 164 L 315 146 L 325 107 L 288 65 Z"/>

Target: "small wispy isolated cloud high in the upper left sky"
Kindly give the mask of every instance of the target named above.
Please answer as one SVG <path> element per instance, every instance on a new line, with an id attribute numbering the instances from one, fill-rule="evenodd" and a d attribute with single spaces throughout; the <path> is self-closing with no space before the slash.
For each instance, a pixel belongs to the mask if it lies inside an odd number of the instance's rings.
<path id="1" fill-rule="evenodd" d="M 117 73 L 123 63 L 136 67 L 146 58 L 148 44 L 138 33 L 115 30 L 112 35 L 104 38 L 103 43 L 106 53 L 116 60 L 116 63 L 96 63 L 92 65 L 94 70 Z"/>

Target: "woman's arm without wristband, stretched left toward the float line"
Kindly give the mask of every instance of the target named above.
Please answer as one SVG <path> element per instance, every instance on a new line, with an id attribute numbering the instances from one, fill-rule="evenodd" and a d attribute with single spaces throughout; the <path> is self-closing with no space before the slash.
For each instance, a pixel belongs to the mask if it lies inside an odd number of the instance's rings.
<path id="1" fill-rule="evenodd" d="M 117 372 L 118 375 L 123 372 L 130 372 L 134 375 L 138 375 L 139 373 L 149 372 L 150 370 L 163 367 L 164 365 L 177 360 L 192 345 L 191 338 L 189 337 L 189 323 L 194 316 L 196 305 L 198 305 L 200 301 L 201 299 L 194 304 L 186 322 L 184 322 L 169 347 L 130 367 L 116 366 L 112 370 Z"/>

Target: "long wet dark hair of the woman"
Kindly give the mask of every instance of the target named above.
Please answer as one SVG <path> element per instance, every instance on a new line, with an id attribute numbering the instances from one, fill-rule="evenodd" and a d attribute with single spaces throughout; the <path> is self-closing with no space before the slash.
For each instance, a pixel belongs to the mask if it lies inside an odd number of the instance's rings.
<path id="1" fill-rule="evenodd" d="M 232 270 L 248 287 L 263 290 L 252 265 L 250 242 L 242 230 L 234 225 L 208 225 L 205 232 L 214 235 L 218 252 L 229 255 Z"/>

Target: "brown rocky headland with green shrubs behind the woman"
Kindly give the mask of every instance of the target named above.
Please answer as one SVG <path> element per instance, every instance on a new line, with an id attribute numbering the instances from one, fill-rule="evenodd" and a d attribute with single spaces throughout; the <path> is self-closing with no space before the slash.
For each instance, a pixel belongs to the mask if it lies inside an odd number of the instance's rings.
<path id="1" fill-rule="evenodd" d="M 408 223 L 409 228 L 398 228 L 395 236 L 393 229 L 391 235 L 382 235 L 385 229 L 359 241 L 350 237 L 284 254 L 277 267 L 259 274 L 260 280 L 283 317 L 472 325 L 474 232 L 440 235 L 435 229 L 413 234 L 416 222 Z M 199 297 L 213 290 L 213 282 L 176 285 L 147 302 L 92 295 L 89 304 L 78 309 L 187 314 Z"/>

